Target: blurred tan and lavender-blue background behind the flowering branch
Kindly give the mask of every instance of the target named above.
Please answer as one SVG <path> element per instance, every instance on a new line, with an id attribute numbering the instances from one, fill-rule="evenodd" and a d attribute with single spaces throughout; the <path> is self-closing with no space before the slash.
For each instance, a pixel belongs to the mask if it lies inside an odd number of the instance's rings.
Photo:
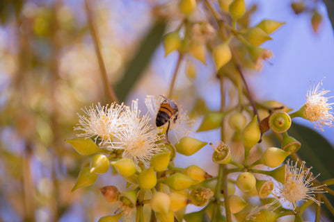
<path id="1" fill-rule="evenodd" d="M 88 159 L 64 139 L 75 137 L 81 108 L 111 103 L 104 92 L 88 14 L 100 39 L 109 83 L 120 101 L 129 104 L 138 98 L 145 113 L 145 96 L 166 94 L 175 69 L 177 53 L 165 58 L 161 45 L 162 35 L 180 23 L 180 17 L 161 10 L 173 3 L 104 0 L 90 1 L 87 9 L 83 0 L 0 1 L 0 221 L 97 221 L 117 209 L 98 190 L 105 185 L 125 187 L 117 176 L 99 177 L 95 185 L 71 192 Z M 334 41 L 322 1 L 305 1 L 308 10 L 301 13 L 291 3 L 246 1 L 253 12 L 250 24 L 262 19 L 286 22 L 264 44 L 274 57 L 264 62 L 260 73 L 247 75 L 257 99 L 277 100 L 298 110 L 310 81 L 318 83 L 326 76 L 324 89 L 334 90 Z M 315 11 L 322 18 L 316 28 L 311 22 Z M 196 77 L 186 75 L 187 62 L 196 67 Z M 186 58 L 175 90 L 184 110 L 191 112 L 198 101 L 218 110 L 212 58 L 207 56 L 207 65 Z M 319 133 L 334 144 L 333 128 Z M 208 140 L 218 134 L 212 130 L 196 137 Z M 207 150 L 195 157 L 201 160 L 199 167 L 215 175 Z M 177 162 L 182 167 L 196 159 Z"/>

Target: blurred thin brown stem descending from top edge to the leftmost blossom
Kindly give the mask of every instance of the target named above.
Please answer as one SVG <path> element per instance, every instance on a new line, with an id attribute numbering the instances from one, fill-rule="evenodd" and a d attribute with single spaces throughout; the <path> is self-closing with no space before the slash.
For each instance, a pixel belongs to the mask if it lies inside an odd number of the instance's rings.
<path id="1" fill-rule="evenodd" d="M 97 29 L 95 28 L 95 24 L 93 21 L 93 13 L 90 10 L 89 0 L 86 0 L 86 13 L 87 13 L 90 35 L 92 36 L 93 44 L 95 47 L 95 53 L 97 56 L 97 61 L 99 62 L 100 74 L 102 76 L 102 81 L 104 83 L 104 89 L 106 90 L 106 93 L 109 96 L 109 99 L 111 99 L 111 101 L 115 101 L 116 103 L 118 103 L 116 93 L 111 87 L 111 85 L 109 84 L 108 76 L 106 74 L 106 66 L 104 65 L 104 60 L 103 60 L 101 49 L 100 49 L 101 41 L 100 41 L 99 35 L 97 34 Z"/>

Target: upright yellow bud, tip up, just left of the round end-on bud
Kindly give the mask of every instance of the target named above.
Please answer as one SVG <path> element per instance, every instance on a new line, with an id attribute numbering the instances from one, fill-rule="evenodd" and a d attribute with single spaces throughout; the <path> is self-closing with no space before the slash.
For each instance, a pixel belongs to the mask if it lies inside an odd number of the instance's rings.
<path id="1" fill-rule="evenodd" d="M 250 148 L 255 146 L 260 140 L 260 126 L 257 122 L 257 116 L 253 117 L 253 120 L 242 130 L 241 133 L 242 143 L 244 144 L 245 150 L 250 151 Z"/>

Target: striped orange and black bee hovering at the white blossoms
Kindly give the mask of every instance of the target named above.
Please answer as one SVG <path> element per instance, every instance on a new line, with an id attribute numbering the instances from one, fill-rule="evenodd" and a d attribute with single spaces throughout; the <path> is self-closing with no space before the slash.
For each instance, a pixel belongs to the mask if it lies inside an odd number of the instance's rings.
<path id="1" fill-rule="evenodd" d="M 160 104 L 160 108 L 157 113 L 157 118 L 155 119 L 155 125 L 157 127 L 164 126 L 165 123 L 168 122 L 168 127 L 166 130 L 166 134 L 168 133 L 170 120 L 173 119 L 174 123 L 177 120 L 177 115 L 179 114 L 179 109 L 175 101 L 172 99 L 167 99 L 165 96 L 161 96 L 164 98 L 164 101 Z"/>

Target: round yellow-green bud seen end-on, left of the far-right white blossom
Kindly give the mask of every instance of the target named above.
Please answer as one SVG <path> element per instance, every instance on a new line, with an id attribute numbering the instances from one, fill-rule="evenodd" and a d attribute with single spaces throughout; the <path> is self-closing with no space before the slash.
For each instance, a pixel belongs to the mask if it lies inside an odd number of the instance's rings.
<path id="1" fill-rule="evenodd" d="M 286 112 L 276 111 L 270 115 L 268 124 L 273 132 L 284 133 L 291 126 L 291 118 Z"/>

